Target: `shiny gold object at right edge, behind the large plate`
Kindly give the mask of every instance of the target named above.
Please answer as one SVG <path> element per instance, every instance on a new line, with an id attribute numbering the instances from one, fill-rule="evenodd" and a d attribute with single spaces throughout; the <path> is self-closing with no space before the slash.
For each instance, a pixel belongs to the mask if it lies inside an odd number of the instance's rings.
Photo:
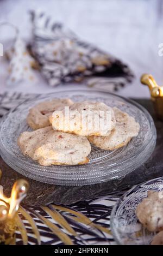
<path id="1" fill-rule="evenodd" d="M 160 120 L 163 120 L 163 86 L 156 84 L 153 76 L 148 74 L 141 76 L 141 83 L 149 87 L 156 116 Z"/>

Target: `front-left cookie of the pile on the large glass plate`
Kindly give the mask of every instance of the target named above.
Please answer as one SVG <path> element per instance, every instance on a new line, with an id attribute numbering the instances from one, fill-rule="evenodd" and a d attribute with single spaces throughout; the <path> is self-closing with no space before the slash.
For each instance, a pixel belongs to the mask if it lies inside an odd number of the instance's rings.
<path id="1" fill-rule="evenodd" d="M 85 164 L 91 152 L 86 137 L 55 131 L 51 126 L 23 132 L 17 144 L 24 156 L 45 166 Z"/>

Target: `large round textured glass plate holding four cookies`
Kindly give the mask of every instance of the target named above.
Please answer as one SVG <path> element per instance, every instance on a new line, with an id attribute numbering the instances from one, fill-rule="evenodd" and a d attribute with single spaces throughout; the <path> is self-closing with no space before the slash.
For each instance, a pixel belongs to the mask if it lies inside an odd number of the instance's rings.
<path id="1" fill-rule="evenodd" d="M 114 151 L 92 146 L 90 162 L 83 165 L 41 166 L 25 157 L 17 146 L 18 136 L 30 130 L 26 123 L 28 110 L 44 100 L 71 98 L 74 102 L 92 100 L 116 106 L 133 116 L 140 124 L 140 132 L 127 146 Z M 12 109 L 2 118 L 0 129 L 0 152 L 12 169 L 34 180 L 60 184 L 84 185 L 121 179 L 142 165 L 152 154 L 156 141 L 156 130 L 151 115 L 139 104 L 104 91 L 76 90 L 37 95 Z"/>

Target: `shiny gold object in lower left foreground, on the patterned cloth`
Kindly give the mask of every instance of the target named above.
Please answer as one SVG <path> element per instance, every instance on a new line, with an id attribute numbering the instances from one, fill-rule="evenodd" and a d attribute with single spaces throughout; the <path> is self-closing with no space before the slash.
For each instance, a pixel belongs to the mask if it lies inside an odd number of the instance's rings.
<path id="1" fill-rule="evenodd" d="M 2 171 L 0 170 L 0 178 Z M 0 186 L 0 243 L 11 244 L 17 228 L 17 211 L 20 203 L 26 197 L 29 184 L 26 180 L 20 179 L 14 183 L 10 198 L 3 194 L 3 187 Z"/>

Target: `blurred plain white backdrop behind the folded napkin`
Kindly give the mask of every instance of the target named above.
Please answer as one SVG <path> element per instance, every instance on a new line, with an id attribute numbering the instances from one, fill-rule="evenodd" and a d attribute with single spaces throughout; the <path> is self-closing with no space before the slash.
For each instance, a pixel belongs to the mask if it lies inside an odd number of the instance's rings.
<path id="1" fill-rule="evenodd" d="M 80 38 L 121 58 L 133 69 L 136 79 L 119 93 L 126 97 L 149 97 L 148 88 L 140 84 L 142 73 L 151 73 L 163 85 L 163 57 L 158 45 L 163 42 L 163 1 L 159 0 L 0 0 L 0 21 L 20 28 L 24 38 L 30 34 L 28 10 L 41 9 L 56 21 L 64 22 Z M 1 32 L 0 43 L 3 33 Z M 2 36 L 2 37 L 1 37 Z M 51 88 L 38 75 L 36 85 L 22 82 L 5 85 L 7 63 L 0 57 L 0 89 L 27 93 L 48 93 L 81 85 Z"/>

